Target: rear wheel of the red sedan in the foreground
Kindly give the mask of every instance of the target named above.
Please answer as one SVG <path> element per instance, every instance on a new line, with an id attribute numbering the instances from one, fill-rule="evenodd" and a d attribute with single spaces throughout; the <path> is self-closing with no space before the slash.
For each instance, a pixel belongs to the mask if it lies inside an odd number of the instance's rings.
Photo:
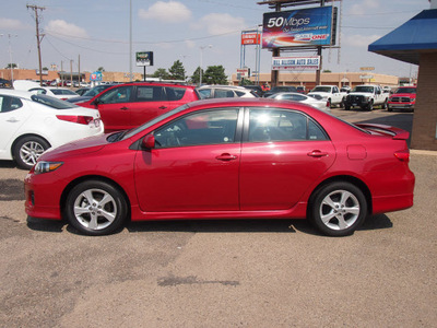
<path id="1" fill-rule="evenodd" d="M 363 191 L 345 181 L 321 187 L 309 206 L 309 221 L 328 236 L 353 234 L 367 215 Z"/>

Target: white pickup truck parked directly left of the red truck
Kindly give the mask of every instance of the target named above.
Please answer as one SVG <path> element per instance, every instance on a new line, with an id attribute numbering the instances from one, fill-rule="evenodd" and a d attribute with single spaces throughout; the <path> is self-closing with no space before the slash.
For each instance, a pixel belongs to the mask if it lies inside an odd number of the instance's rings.
<path id="1" fill-rule="evenodd" d="M 379 85 L 364 84 L 357 85 L 344 99 L 344 109 L 361 107 L 362 109 L 373 110 L 374 106 L 387 108 L 388 93 L 383 93 Z"/>

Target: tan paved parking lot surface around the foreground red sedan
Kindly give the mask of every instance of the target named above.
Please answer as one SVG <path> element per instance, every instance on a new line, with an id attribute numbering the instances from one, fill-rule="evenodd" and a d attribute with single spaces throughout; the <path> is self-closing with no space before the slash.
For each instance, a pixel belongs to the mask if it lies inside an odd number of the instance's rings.
<path id="1" fill-rule="evenodd" d="M 412 114 L 332 112 L 411 130 Z M 27 218 L 26 172 L 0 162 L 0 327 L 435 327 L 437 155 L 414 150 L 410 166 L 414 207 L 349 237 L 305 220 L 141 222 L 87 237 Z"/>

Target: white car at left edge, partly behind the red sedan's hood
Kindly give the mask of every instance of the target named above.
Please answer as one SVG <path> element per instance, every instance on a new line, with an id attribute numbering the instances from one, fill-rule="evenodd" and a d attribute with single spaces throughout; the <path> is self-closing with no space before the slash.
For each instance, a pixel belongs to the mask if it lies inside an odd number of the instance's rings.
<path id="1" fill-rule="evenodd" d="M 47 149 L 103 132 L 97 109 L 48 95 L 0 90 L 0 160 L 31 169 Z"/>

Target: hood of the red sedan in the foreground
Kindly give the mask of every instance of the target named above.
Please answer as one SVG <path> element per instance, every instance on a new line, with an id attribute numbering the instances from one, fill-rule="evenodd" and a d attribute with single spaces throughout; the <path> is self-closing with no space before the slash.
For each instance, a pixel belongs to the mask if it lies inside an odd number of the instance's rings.
<path id="1" fill-rule="evenodd" d="M 43 156 L 40 156 L 40 160 L 49 161 L 54 157 L 58 157 L 60 154 L 62 154 L 62 156 L 66 156 L 67 154 L 69 156 L 74 156 L 76 154 L 97 152 L 109 143 L 106 140 L 108 134 L 102 134 L 71 141 L 69 143 L 47 151 L 43 154 Z"/>

